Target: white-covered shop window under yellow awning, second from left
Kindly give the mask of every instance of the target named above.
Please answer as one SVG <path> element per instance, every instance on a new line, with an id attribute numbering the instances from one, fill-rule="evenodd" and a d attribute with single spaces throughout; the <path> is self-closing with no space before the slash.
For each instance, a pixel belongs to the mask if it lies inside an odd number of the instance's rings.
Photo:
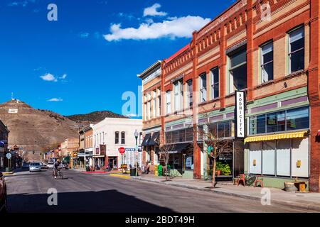
<path id="1" fill-rule="evenodd" d="M 266 141 L 262 145 L 262 174 L 274 175 L 275 141 Z"/>

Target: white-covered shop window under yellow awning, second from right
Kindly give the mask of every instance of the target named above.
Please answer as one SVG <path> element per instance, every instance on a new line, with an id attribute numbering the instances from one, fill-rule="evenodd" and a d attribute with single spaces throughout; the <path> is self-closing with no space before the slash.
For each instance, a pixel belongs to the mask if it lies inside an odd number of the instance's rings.
<path id="1" fill-rule="evenodd" d="M 277 141 L 277 176 L 290 176 L 291 140 Z"/>

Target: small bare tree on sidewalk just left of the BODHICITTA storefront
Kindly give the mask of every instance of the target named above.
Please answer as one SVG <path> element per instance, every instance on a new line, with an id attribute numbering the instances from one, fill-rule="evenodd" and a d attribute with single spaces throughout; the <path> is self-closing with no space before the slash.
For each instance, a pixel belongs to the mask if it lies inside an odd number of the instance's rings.
<path id="1" fill-rule="evenodd" d="M 208 147 L 208 157 L 213 160 L 212 187 L 215 187 L 215 170 L 217 159 L 220 155 L 233 153 L 233 141 L 225 138 L 219 138 L 217 128 L 198 127 L 198 136 L 203 139 Z"/>

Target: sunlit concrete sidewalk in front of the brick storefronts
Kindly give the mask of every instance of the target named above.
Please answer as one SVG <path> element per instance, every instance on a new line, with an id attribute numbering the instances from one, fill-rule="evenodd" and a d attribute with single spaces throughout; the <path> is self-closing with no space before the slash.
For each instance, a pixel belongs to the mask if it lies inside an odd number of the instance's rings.
<path id="1" fill-rule="evenodd" d="M 131 178 L 146 182 L 156 182 L 174 187 L 197 189 L 206 192 L 214 192 L 217 194 L 225 194 L 258 201 L 261 201 L 262 196 L 265 195 L 265 192 L 262 192 L 260 187 L 243 187 L 242 185 L 236 186 L 227 182 L 218 182 L 214 189 L 210 189 L 211 183 L 201 179 L 183 179 L 176 177 L 166 182 L 166 177 L 156 177 L 153 175 L 141 175 L 139 177 Z M 270 189 L 271 204 L 282 204 L 320 212 L 320 193 L 284 192 L 281 189 L 274 188 L 265 189 Z"/>

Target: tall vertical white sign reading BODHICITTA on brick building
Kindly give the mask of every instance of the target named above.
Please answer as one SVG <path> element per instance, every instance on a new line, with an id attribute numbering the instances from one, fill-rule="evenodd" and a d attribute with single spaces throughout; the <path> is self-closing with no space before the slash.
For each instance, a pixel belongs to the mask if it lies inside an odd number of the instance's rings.
<path id="1" fill-rule="evenodd" d="M 235 92 L 235 138 L 245 138 L 245 92 Z"/>

